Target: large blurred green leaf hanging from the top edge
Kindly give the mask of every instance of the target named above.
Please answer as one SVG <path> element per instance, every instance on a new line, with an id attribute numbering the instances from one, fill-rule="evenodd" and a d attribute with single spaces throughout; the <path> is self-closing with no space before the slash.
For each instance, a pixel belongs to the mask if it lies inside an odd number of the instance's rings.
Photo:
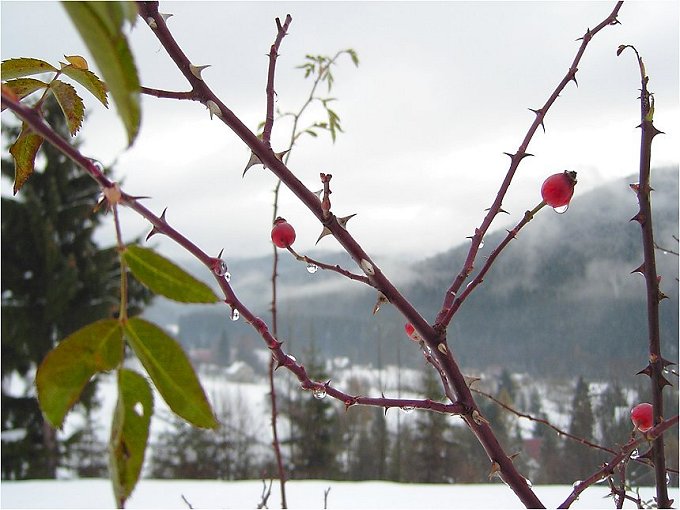
<path id="1" fill-rule="evenodd" d="M 62 2 L 97 62 L 132 145 L 141 122 L 140 85 L 123 23 L 129 2 Z"/>

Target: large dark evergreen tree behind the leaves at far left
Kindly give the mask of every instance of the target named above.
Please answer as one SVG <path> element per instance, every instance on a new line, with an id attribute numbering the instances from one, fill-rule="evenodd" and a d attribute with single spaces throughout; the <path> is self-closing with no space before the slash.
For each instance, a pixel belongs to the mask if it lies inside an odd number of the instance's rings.
<path id="1" fill-rule="evenodd" d="M 48 122 L 69 138 L 56 102 L 45 102 Z M 17 128 L 3 135 L 14 140 Z M 16 197 L 2 197 L 2 476 L 53 478 L 66 446 L 38 408 L 33 376 L 56 343 L 119 306 L 115 248 L 93 240 L 103 210 L 94 212 L 99 185 L 71 160 L 43 144 L 36 171 Z M 14 163 L 2 160 L 13 178 Z M 134 282 L 130 312 L 148 299 Z M 82 404 L 89 409 L 94 386 Z M 11 432 L 10 432 L 11 431 Z M 4 439 L 13 441 L 6 443 Z"/>

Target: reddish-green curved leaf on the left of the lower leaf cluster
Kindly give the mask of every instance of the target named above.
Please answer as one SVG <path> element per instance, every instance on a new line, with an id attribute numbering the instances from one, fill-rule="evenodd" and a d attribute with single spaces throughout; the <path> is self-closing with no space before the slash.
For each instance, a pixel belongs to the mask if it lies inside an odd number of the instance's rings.
<path id="1" fill-rule="evenodd" d="M 98 372 L 113 370 L 123 360 L 123 330 L 114 319 L 89 324 L 59 342 L 35 376 L 38 402 L 53 427 L 59 428 Z"/>

